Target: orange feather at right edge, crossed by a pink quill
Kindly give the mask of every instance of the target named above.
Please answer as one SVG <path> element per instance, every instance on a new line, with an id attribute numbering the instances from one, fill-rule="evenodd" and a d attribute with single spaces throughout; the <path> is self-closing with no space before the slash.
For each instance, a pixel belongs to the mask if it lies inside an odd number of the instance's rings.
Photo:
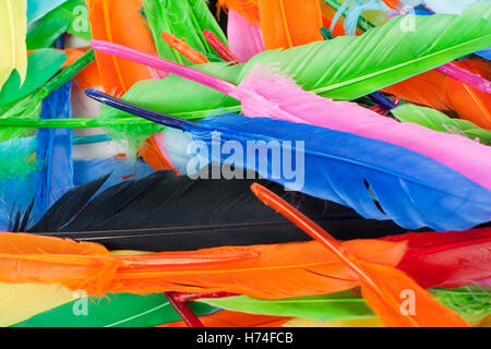
<path id="1" fill-rule="evenodd" d="M 480 60 L 464 60 L 454 63 L 490 80 L 490 68 Z M 460 118 L 491 130 L 491 98 L 489 98 L 489 94 L 469 87 L 434 70 L 385 87 L 383 91 L 441 111 L 454 111 Z"/>

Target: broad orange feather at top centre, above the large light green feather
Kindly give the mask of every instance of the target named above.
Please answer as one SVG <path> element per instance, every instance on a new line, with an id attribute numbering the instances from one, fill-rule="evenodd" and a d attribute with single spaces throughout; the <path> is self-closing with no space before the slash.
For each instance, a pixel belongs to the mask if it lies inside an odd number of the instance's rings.
<path id="1" fill-rule="evenodd" d="M 319 0 L 259 0 L 266 49 L 285 49 L 322 40 Z"/>

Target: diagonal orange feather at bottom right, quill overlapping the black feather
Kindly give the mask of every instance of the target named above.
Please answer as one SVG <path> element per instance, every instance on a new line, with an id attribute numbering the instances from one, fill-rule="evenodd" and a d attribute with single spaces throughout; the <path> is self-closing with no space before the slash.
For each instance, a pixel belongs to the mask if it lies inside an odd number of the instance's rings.
<path id="1" fill-rule="evenodd" d="M 411 278 L 394 267 L 370 263 L 347 251 L 328 232 L 266 188 L 254 183 L 254 194 L 319 241 L 348 266 L 360 281 L 361 294 L 380 320 L 391 327 L 467 327 L 456 313 L 439 303 Z M 402 294 L 410 290 L 414 311 L 404 308 Z M 404 311 L 403 311 L 404 310 Z"/>

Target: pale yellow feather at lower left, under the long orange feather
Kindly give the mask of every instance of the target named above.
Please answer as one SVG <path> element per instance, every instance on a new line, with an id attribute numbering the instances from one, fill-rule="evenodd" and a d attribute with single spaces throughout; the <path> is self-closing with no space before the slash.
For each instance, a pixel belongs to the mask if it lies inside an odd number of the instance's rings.
<path id="1" fill-rule="evenodd" d="M 1 284 L 0 327 L 7 327 L 77 299 L 59 285 Z"/>

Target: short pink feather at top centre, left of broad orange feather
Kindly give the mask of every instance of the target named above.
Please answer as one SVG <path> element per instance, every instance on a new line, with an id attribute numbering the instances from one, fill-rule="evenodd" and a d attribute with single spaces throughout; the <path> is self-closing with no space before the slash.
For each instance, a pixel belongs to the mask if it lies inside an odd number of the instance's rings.
<path id="1" fill-rule="evenodd" d="M 227 36 L 230 50 L 241 62 L 265 50 L 261 29 L 231 9 L 228 11 Z"/>

